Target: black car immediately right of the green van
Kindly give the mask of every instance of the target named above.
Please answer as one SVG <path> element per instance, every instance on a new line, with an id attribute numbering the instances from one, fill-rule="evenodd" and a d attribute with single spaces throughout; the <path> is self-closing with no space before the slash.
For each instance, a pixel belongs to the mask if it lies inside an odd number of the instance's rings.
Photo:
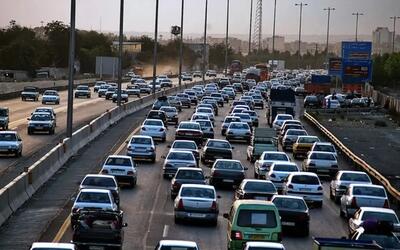
<path id="1" fill-rule="evenodd" d="M 271 201 L 278 208 L 283 229 L 296 230 L 303 236 L 310 233 L 310 213 L 302 197 L 274 195 Z"/>

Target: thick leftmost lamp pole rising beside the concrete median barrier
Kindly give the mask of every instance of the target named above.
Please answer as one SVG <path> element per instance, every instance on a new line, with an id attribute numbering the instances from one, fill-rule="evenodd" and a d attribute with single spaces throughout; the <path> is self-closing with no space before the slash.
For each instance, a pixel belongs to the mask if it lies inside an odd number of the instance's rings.
<path id="1" fill-rule="evenodd" d="M 75 64 L 75 16 L 76 0 L 71 0 L 71 23 L 69 30 L 69 58 L 68 58 L 68 104 L 67 104 L 67 137 L 72 137 L 72 123 L 74 110 L 74 64 Z"/>

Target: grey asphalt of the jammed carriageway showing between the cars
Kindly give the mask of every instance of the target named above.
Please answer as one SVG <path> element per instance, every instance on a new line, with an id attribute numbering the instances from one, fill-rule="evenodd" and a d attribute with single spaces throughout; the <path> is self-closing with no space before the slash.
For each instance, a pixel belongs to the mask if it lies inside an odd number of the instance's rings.
<path id="1" fill-rule="evenodd" d="M 302 100 L 298 99 L 297 102 L 298 107 L 301 107 Z M 222 138 L 220 125 L 223 117 L 228 112 L 228 108 L 229 106 L 225 105 L 224 108 L 220 109 L 220 113 L 216 117 L 216 138 Z M 265 110 L 257 112 L 260 116 L 260 126 L 266 126 Z M 180 114 L 180 120 L 187 120 L 192 113 L 193 109 L 183 110 Z M 300 109 L 297 114 L 301 114 Z M 316 133 L 306 123 L 305 126 L 310 134 Z M 137 132 L 136 124 L 132 126 L 130 132 L 131 134 Z M 173 142 L 174 132 L 175 128 L 169 126 L 167 142 L 159 143 L 157 146 L 157 161 L 155 164 L 140 163 L 138 167 L 138 185 L 132 190 L 122 189 L 121 206 L 124 210 L 124 218 L 128 223 L 123 249 L 154 249 L 161 239 L 193 240 L 199 244 L 201 249 L 226 249 L 227 222 L 222 217 L 222 214 L 230 208 L 233 190 L 217 189 L 217 193 L 221 195 L 219 200 L 220 216 L 217 227 L 201 224 L 174 224 L 173 202 L 169 194 L 170 182 L 163 179 L 161 168 L 163 161 L 161 156 L 168 153 L 167 145 Z M 254 168 L 253 164 L 246 161 L 245 151 L 247 145 L 245 143 L 234 143 L 233 145 L 235 147 L 234 159 L 241 160 L 242 164 L 249 168 L 246 176 L 252 178 Z M 110 153 L 125 154 L 125 147 L 125 143 L 117 144 Z M 84 160 L 85 157 L 85 153 L 83 153 L 79 158 Z M 300 166 L 300 161 L 295 162 Z M 100 165 L 96 166 L 96 170 L 98 171 L 100 167 Z M 209 173 L 210 169 L 208 167 L 201 167 L 206 174 Z M 339 167 L 341 169 L 349 168 L 341 156 L 339 157 Z M 325 180 L 323 186 L 325 196 L 322 209 L 310 209 L 310 236 L 303 238 L 284 233 L 283 243 L 287 249 L 311 249 L 313 236 L 342 237 L 347 235 L 347 223 L 339 217 L 339 207 L 329 200 L 329 182 Z M 68 211 L 70 206 L 71 203 L 69 203 L 69 207 L 67 206 L 65 211 Z M 68 224 L 67 213 L 64 212 L 56 220 L 58 225 L 50 226 L 41 240 L 53 239 L 59 242 L 69 242 L 72 231 Z"/>

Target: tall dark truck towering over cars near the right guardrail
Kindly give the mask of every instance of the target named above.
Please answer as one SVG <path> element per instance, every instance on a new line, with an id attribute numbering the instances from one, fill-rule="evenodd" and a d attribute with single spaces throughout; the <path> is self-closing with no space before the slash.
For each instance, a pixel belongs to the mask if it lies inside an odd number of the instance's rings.
<path id="1" fill-rule="evenodd" d="M 267 122 L 272 127 L 272 122 L 278 114 L 288 114 L 294 117 L 296 107 L 296 96 L 291 88 L 271 89 L 269 96 L 269 107 L 267 109 Z"/>

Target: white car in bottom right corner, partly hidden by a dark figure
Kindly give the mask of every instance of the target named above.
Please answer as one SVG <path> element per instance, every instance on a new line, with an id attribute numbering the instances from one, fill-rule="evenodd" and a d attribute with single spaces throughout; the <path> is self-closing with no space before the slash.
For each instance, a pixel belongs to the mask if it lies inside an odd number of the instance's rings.
<path id="1" fill-rule="evenodd" d="M 395 227 L 400 226 L 396 212 L 388 208 L 361 207 L 349 219 L 349 235 L 354 234 L 366 221 L 385 221 Z"/>

